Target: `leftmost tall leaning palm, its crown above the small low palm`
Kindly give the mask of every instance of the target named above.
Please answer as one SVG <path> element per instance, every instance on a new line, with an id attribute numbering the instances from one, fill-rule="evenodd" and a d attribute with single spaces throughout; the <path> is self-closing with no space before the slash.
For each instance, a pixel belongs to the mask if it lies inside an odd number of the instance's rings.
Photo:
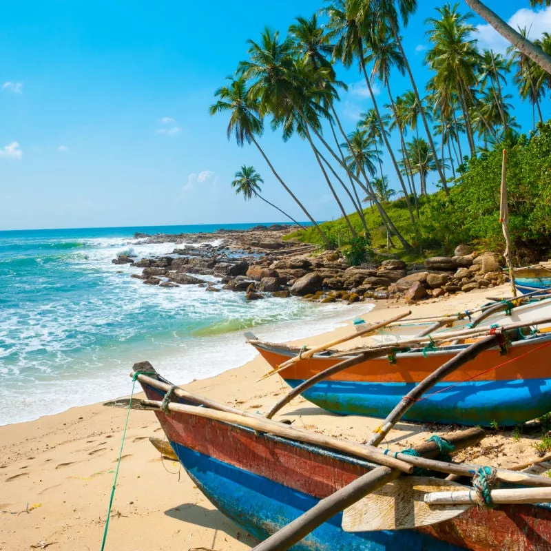
<path id="1" fill-rule="evenodd" d="M 253 143 L 256 145 L 258 151 L 267 162 L 273 175 L 277 178 L 278 182 L 283 186 L 285 191 L 295 200 L 297 205 L 302 209 L 304 214 L 312 222 L 312 225 L 320 234 L 325 246 L 331 248 L 331 242 L 327 236 L 323 233 L 318 223 L 312 218 L 306 207 L 302 205 L 302 202 L 298 200 L 297 196 L 293 194 L 293 191 L 282 180 L 278 172 L 271 164 L 271 161 L 264 153 L 264 149 L 260 147 L 260 144 L 256 140 L 256 136 L 260 136 L 264 130 L 264 123 L 262 122 L 262 116 L 260 113 L 260 103 L 255 98 L 252 98 L 247 90 L 247 83 L 242 76 L 237 78 L 228 77 L 229 85 L 222 86 L 214 93 L 215 97 L 218 97 L 218 101 L 210 106 L 209 112 L 211 115 L 222 112 L 229 112 L 229 123 L 227 126 L 228 139 L 233 134 L 236 138 L 237 145 L 243 147 L 245 143 Z"/>

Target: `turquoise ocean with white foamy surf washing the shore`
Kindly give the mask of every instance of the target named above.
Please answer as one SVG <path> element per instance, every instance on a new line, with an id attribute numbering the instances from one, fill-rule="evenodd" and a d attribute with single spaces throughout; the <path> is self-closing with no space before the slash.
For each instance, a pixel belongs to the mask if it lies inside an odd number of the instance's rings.
<path id="1" fill-rule="evenodd" d="M 149 360 L 185 384 L 251 360 L 246 329 L 273 341 L 296 339 L 372 307 L 297 298 L 246 302 L 244 293 L 206 293 L 194 285 L 160 289 L 130 277 L 140 269 L 111 262 L 124 251 L 141 258 L 174 249 L 138 245 L 136 232 L 254 225 L 0 231 L 0 425 L 127 395 L 134 362 Z"/>

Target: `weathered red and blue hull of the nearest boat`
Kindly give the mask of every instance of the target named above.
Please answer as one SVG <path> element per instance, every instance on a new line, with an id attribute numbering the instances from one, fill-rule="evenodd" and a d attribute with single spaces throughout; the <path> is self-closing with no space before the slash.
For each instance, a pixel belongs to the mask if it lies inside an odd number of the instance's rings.
<path id="1" fill-rule="evenodd" d="M 147 397 L 162 394 L 143 385 Z M 185 403 L 184 400 L 181 400 Z M 265 539 L 373 465 L 317 446 L 255 433 L 185 413 L 156 413 L 198 488 L 238 526 Z M 459 551 L 550 549 L 551 511 L 536 506 L 472 508 L 422 530 L 347 533 L 342 514 L 293 546 L 295 551 Z"/>

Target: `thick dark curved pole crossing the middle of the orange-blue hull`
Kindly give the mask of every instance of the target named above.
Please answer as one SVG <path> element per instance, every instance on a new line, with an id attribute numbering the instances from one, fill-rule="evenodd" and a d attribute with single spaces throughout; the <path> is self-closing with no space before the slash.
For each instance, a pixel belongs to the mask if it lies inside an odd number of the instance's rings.
<path id="1" fill-rule="evenodd" d="M 448 362 L 433 371 L 433 373 L 430 373 L 430 375 L 425 377 L 422 382 L 413 388 L 413 390 L 408 392 L 395 406 L 391 413 L 387 415 L 386 419 L 384 419 L 384 422 L 382 423 L 382 426 L 380 426 L 380 428 L 376 430 L 373 435 L 371 435 L 371 438 L 368 440 L 368 445 L 378 446 L 380 442 L 384 440 L 384 437 L 386 437 L 391 428 L 393 428 L 398 420 L 402 418 L 404 413 L 406 413 L 406 411 L 413 406 L 413 404 L 417 402 L 417 399 L 422 397 L 426 391 L 433 388 L 437 382 L 444 379 L 444 377 L 450 373 L 453 373 L 462 365 L 470 362 L 470 360 L 477 357 L 477 355 L 479 355 L 482 351 L 499 344 L 502 338 L 503 335 L 501 335 L 501 333 L 496 333 L 495 335 L 490 335 L 482 340 L 474 342 L 466 349 L 459 352 L 459 354 L 455 355 L 451 360 L 448 360 Z"/>

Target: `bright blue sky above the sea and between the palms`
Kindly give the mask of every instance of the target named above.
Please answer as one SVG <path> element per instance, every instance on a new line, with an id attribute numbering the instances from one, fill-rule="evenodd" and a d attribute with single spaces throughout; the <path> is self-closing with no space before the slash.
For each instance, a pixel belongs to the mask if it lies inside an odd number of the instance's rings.
<path id="1" fill-rule="evenodd" d="M 531 28 L 531 37 L 551 28 L 551 8 L 530 10 L 528 0 L 486 4 L 514 26 Z M 264 179 L 267 199 L 304 220 L 256 148 L 228 141 L 227 117 L 211 117 L 208 108 L 216 88 L 246 59 L 247 39 L 256 39 L 266 25 L 284 34 L 295 17 L 310 17 L 322 5 L 6 3 L 0 32 L 0 230 L 281 220 L 264 202 L 245 202 L 231 189 L 244 164 Z M 422 7 L 403 31 L 420 88 L 429 76 L 424 20 L 436 17 L 441 5 L 419 0 Z M 460 8 L 468 10 L 464 2 Z M 484 21 L 472 21 L 482 47 L 505 50 L 506 42 Z M 350 132 L 372 105 L 357 67 L 339 69 L 339 76 L 349 91 L 337 110 Z M 410 85 L 393 74 L 391 87 L 396 95 Z M 388 96 L 379 85 L 375 90 L 384 110 Z M 512 87 L 508 91 L 514 94 Z M 529 130 L 530 105 L 516 98 L 511 103 Z M 543 115 L 551 116 L 549 99 Z M 307 144 L 299 138 L 283 143 L 269 125 L 260 142 L 316 220 L 340 216 Z M 397 189 L 386 155 L 384 170 Z"/>

